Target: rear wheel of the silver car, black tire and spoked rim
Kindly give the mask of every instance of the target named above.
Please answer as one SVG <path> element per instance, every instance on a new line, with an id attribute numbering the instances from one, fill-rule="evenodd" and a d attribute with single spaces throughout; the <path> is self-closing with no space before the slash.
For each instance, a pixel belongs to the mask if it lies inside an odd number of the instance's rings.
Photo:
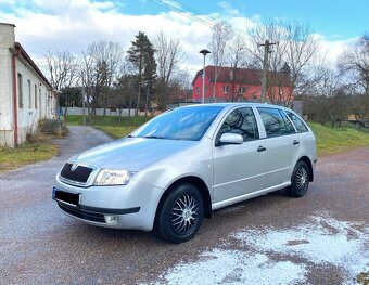
<path id="1" fill-rule="evenodd" d="M 293 170 L 291 185 L 285 187 L 285 193 L 292 197 L 302 197 L 307 192 L 309 181 L 309 169 L 304 161 L 300 160 Z"/>

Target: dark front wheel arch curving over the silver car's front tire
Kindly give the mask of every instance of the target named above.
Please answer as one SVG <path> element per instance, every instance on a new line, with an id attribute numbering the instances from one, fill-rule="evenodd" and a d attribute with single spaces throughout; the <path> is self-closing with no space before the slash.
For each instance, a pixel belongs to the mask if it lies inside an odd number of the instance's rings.
<path id="1" fill-rule="evenodd" d="M 195 185 L 199 189 L 199 191 L 200 191 L 200 193 L 203 197 L 203 202 L 204 202 L 204 217 L 205 218 L 212 218 L 212 198 L 211 198 L 208 187 L 207 187 L 206 183 L 201 178 L 194 177 L 194 176 L 182 177 L 182 178 L 174 181 L 166 189 L 166 191 L 163 193 L 163 195 L 162 195 L 162 197 L 158 202 L 156 215 L 157 215 L 157 210 L 160 209 L 160 207 L 162 207 L 162 204 L 163 204 L 164 199 L 166 198 L 166 196 L 168 195 L 168 193 L 170 192 L 170 190 L 176 187 L 180 183 L 190 183 L 190 184 Z M 156 219 L 156 217 L 155 217 L 155 219 Z"/>

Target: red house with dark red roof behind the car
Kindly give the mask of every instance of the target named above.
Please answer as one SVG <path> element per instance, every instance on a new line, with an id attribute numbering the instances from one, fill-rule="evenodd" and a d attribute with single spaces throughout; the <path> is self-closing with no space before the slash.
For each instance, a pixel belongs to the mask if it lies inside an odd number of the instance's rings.
<path id="1" fill-rule="evenodd" d="M 217 76 L 216 76 L 217 74 Z M 201 102 L 203 69 L 192 81 L 192 101 Z M 288 75 L 268 73 L 267 101 L 293 100 Z M 232 67 L 205 67 L 205 102 L 258 101 L 262 94 L 262 70 Z"/>

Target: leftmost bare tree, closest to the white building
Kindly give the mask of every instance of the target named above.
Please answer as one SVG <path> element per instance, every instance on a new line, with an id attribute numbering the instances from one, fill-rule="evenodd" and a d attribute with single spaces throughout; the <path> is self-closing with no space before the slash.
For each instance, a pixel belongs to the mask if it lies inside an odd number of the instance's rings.
<path id="1" fill-rule="evenodd" d="M 50 83 L 54 90 L 69 88 L 77 78 L 77 57 L 69 51 L 49 50 L 46 54 Z M 67 113 L 67 94 L 65 95 L 64 117 Z"/>

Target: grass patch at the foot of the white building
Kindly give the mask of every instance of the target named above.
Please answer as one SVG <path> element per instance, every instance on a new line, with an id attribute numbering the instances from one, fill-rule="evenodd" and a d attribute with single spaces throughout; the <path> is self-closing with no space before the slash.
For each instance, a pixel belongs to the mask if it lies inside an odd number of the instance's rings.
<path id="1" fill-rule="evenodd" d="M 33 142 L 21 144 L 16 148 L 0 147 L 0 173 L 58 155 L 59 146 L 51 143 L 51 135 L 38 134 Z"/>

